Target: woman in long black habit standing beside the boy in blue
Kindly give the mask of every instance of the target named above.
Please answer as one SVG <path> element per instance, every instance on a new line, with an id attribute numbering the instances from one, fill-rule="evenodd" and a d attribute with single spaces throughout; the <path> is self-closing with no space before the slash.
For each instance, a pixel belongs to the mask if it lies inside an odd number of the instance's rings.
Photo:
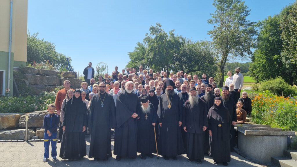
<path id="1" fill-rule="evenodd" d="M 64 106 L 62 122 L 63 136 L 60 149 L 62 159 L 76 160 L 87 155 L 84 131 L 87 125 L 87 107 L 81 100 L 81 91 L 76 89 L 74 96 Z"/>

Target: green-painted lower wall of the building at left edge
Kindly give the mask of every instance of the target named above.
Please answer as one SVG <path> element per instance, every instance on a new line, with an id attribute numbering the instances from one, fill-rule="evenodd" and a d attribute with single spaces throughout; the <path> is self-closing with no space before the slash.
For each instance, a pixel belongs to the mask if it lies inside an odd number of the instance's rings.
<path id="1" fill-rule="evenodd" d="M 8 88 L 8 52 L 0 51 L 0 70 L 5 70 L 5 89 Z M 12 96 L 12 89 L 13 89 L 13 56 L 14 53 L 11 53 L 10 57 L 10 95 Z M 4 90 L 5 90 L 4 89 Z M 2 94 L 2 92 L 0 93 Z"/>

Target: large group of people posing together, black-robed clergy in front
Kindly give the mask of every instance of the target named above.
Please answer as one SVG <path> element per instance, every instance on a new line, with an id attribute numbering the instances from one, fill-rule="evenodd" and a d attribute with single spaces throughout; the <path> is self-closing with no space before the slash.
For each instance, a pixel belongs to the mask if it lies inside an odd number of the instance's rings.
<path id="1" fill-rule="evenodd" d="M 95 82 L 90 62 L 81 89 L 74 91 L 70 81 L 64 81 L 55 104 L 62 159 L 86 155 L 85 131 L 90 134 L 89 157 L 108 159 L 112 156 L 110 129 L 115 128 L 116 160 L 136 158 L 137 152 L 146 159 L 157 152 L 165 160 L 187 154 L 189 162 L 197 163 L 210 155 L 214 163 L 228 165 L 235 146 L 234 125 L 244 123 L 251 111 L 247 93 L 238 96 L 243 86 L 239 67 L 233 77 L 228 72 L 222 95 L 214 78 L 206 79 L 206 74 L 192 79 L 180 71 L 168 78 L 164 71 L 153 73 L 142 66 L 138 72 L 136 68 L 127 68 L 126 73 L 117 70 Z"/>

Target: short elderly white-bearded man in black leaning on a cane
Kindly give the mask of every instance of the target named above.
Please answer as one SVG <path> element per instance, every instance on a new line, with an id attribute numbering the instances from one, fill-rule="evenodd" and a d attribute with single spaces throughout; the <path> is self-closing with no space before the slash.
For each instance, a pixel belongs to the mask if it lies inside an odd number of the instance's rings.
<path id="1" fill-rule="evenodd" d="M 152 153 L 156 152 L 154 126 L 157 123 L 157 112 L 147 96 L 138 98 L 142 110 L 138 113 L 137 152 L 140 153 L 141 159 L 145 160 L 146 155 L 152 158 Z"/>

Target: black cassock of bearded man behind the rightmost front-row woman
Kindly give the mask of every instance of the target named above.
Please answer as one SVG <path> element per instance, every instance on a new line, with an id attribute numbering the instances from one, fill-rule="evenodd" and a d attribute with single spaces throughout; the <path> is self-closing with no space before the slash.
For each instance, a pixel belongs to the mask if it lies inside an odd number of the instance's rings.
<path id="1" fill-rule="evenodd" d="M 236 115 L 236 103 L 232 98 L 229 98 L 228 101 L 223 100 L 221 97 L 221 102 L 223 102 L 223 105 L 228 109 L 231 121 L 236 122 L 237 121 L 237 115 Z M 231 134 L 231 139 L 230 139 L 230 149 L 232 149 L 235 146 L 235 129 L 234 125 L 230 125 L 230 134 Z"/>

